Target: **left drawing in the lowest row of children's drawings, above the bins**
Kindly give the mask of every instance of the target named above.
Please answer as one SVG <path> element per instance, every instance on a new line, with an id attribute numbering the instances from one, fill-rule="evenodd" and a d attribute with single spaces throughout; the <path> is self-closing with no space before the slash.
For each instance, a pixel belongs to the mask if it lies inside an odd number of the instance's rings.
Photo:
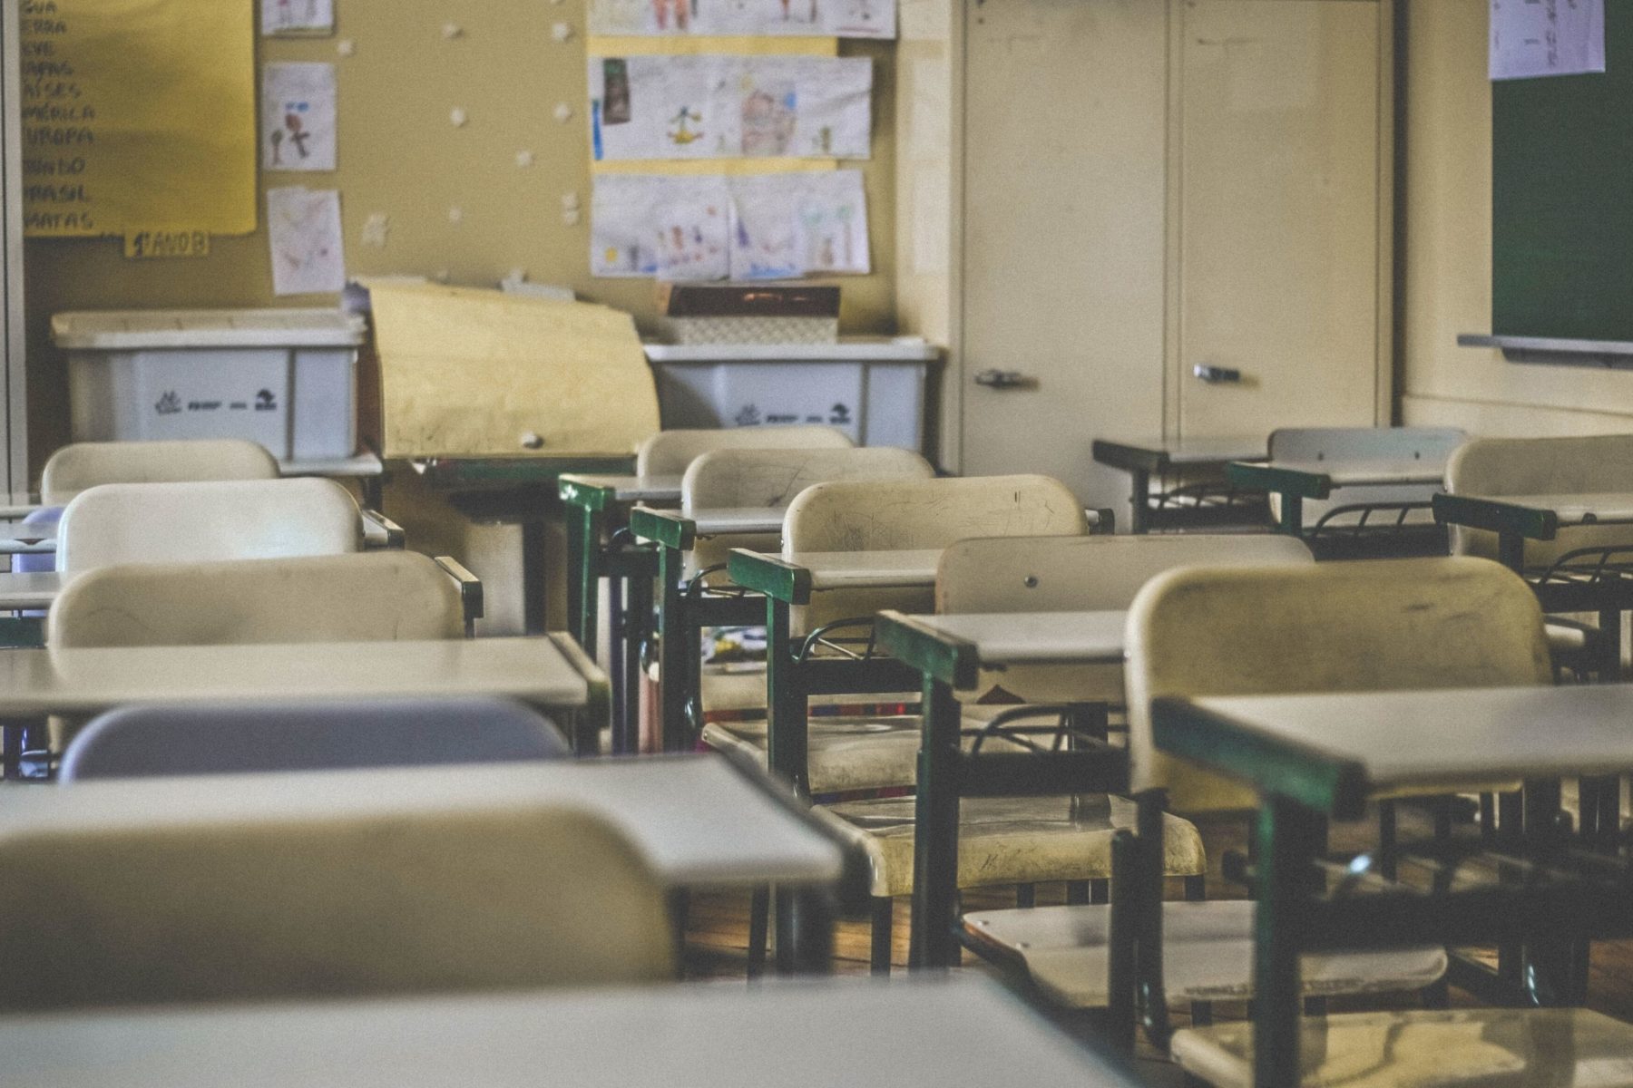
<path id="1" fill-rule="evenodd" d="M 722 279 L 732 196 L 725 178 L 606 175 L 590 209 L 593 276 Z"/>

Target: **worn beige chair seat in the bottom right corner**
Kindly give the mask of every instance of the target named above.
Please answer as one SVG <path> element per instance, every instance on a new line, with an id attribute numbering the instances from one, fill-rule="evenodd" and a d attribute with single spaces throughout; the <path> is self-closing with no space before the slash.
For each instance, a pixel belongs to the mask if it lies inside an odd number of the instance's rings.
<path id="1" fill-rule="evenodd" d="M 1633 1028 L 1582 1008 L 1342 1013 L 1303 1021 L 1303 1085 L 1633 1088 Z M 1174 1060 L 1218 1088 L 1253 1083 L 1248 1023 L 1174 1033 Z"/>

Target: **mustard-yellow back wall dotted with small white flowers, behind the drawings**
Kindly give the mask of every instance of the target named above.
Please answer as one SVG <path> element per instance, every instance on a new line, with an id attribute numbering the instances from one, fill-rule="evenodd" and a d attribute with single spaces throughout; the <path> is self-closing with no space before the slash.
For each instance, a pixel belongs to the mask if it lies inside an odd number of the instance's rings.
<path id="1" fill-rule="evenodd" d="M 565 284 L 581 297 L 653 315 L 645 279 L 590 277 L 590 161 L 583 0 L 338 0 L 336 38 L 261 39 L 261 60 L 331 60 L 340 82 L 340 170 L 276 173 L 273 186 L 338 188 L 351 274 L 446 272 L 454 284 L 493 285 L 511 269 L 536 282 Z M 443 36 L 456 21 L 464 34 Z M 550 34 L 567 23 L 565 44 Z M 336 42 L 356 42 L 341 57 Z M 893 42 L 843 42 L 843 55 L 874 67 L 874 158 L 864 168 L 872 276 L 844 287 L 844 331 L 895 329 L 895 78 Z M 562 124 L 552 111 L 568 103 Z M 462 108 L 465 127 L 449 113 Z M 534 165 L 521 168 L 518 152 Z M 562 196 L 576 192 L 580 223 L 562 222 Z M 462 212 L 454 223 L 449 209 Z M 364 220 L 390 215 L 384 250 L 363 245 Z M 261 209 L 265 219 L 265 204 Z M 26 250 L 29 313 L 29 449 L 34 471 L 67 440 L 67 377 L 51 347 L 60 310 L 122 307 L 323 305 L 327 297 L 271 294 L 263 228 L 212 240 L 198 261 L 126 261 L 118 240 L 31 240 Z"/>

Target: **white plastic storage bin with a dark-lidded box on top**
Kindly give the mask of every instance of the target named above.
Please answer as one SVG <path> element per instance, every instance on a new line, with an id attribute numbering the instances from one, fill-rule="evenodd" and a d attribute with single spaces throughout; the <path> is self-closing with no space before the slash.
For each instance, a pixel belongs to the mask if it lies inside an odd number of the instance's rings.
<path id="1" fill-rule="evenodd" d="M 859 445 L 924 447 L 941 349 L 921 341 L 648 344 L 665 427 L 826 422 Z"/>

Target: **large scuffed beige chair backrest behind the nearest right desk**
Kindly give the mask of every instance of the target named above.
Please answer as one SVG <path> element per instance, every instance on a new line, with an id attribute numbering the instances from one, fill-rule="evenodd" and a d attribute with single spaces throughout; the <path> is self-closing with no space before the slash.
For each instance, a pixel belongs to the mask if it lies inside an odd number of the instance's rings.
<path id="1" fill-rule="evenodd" d="M 1127 636 L 1135 789 L 1181 812 L 1257 807 L 1246 788 L 1151 745 L 1151 700 L 1550 683 L 1530 587 L 1488 559 L 1186 568 L 1135 597 Z"/>

